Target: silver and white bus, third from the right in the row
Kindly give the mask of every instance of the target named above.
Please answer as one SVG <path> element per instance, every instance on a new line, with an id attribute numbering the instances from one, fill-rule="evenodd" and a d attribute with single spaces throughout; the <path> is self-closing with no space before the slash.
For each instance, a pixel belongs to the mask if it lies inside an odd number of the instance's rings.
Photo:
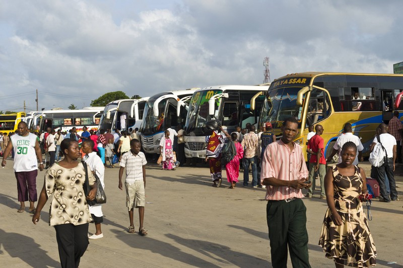
<path id="1" fill-rule="evenodd" d="M 150 97 L 144 109 L 140 139 L 145 153 L 159 154 L 160 140 L 168 127 L 184 125 L 187 104 L 196 89 L 175 90 Z"/>

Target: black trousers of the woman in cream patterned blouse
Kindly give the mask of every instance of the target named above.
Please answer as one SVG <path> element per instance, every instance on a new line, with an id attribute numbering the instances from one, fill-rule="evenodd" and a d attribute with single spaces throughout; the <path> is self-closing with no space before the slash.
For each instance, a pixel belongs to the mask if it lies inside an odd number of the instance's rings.
<path id="1" fill-rule="evenodd" d="M 77 268 L 88 247 L 88 223 L 55 225 L 57 247 L 62 268 Z"/>

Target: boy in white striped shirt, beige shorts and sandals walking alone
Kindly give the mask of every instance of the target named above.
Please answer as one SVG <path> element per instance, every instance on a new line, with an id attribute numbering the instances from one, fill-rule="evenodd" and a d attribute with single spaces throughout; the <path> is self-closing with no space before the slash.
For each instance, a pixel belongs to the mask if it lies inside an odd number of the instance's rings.
<path id="1" fill-rule="evenodd" d="M 142 236 L 147 235 L 146 229 L 143 227 L 144 220 L 144 205 L 146 204 L 146 156 L 140 152 L 142 146 L 140 141 L 133 139 L 130 141 L 130 151 L 124 155 L 120 160 L 119 169 L 119 189 L 122 187 L 123 169 L 126 168 L 126 180 L 124 186 L 126 188 L 126 206 L 129 213 L 130 226 L 128 232 L 135 233 L 135 226 L 133 224 L 133 208 L 139 208 L 140 228 L 139 234 Z"/>

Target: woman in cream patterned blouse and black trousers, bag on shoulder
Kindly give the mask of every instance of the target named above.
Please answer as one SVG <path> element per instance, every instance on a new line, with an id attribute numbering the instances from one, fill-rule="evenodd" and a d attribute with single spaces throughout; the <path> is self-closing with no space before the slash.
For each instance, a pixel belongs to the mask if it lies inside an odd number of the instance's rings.
<path id="1" fill-rule="evenodd" d="M 88 180 L 92 186 L 85 197 L 85 169 L 83 164 L 77 161 L 80 157 L 79 144 L 65 139 L 60 144 L 60 150 L 64 158 L 47 169 L 32 222 L 37 224 L 43 206 L 53 195 L 49 225 L 56 230 L 61 267 L 70 268 L 79 266 L 80 258 L 88 247 L 88 223 L 92 219 L 86 199 L 95 198 L 97 184 L 89 172 Z"/>

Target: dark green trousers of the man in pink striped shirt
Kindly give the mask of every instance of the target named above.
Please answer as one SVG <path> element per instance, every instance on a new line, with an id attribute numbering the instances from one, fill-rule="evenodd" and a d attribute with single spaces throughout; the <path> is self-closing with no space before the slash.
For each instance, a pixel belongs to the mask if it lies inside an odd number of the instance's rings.
<path id="1" fill-rule="evenodd" d="M 293 267 L 311 267 L 308 257 L 306 207 L 300 198 L 267 202 L 268 238 L 274 268 L 287 268 L 288 249 Z"/>

